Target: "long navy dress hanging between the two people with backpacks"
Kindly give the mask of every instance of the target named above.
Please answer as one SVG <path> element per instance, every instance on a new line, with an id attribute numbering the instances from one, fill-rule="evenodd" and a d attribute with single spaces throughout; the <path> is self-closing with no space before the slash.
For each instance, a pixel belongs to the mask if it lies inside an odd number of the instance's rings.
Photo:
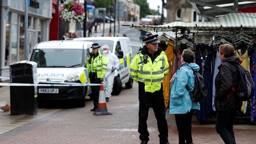
<path id="1" fill-rule="evenodd" d="M 208 114 L 212 110 L 212 46 L 206 46 L 201 48 L 201 54 L 199 52 L 200 45 L 196 45 L 196 64 L 199 65 L 199 73 L 202 75 L 206 82 L 207 96 L 203 102 L 200 102 L 200 110 L 196 111 L 196 117 L 199 121 L 208 121 Z M 206 55 L 207 51 L 207 55 Z M 205 57 L 207 56 L 207 58 Z M 202 57 L 204 63 L 202 62 Z M 202 65 L 203 64 L 203 65 Z"/>

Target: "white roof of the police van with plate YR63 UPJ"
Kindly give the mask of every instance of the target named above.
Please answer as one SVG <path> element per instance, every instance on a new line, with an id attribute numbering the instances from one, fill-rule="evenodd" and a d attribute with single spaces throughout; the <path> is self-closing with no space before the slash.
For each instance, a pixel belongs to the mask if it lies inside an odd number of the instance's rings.
<path id="1" fill-rule="evenodd" d="M 90 48 L 92 44 L 86 41 L 46 41 L 38 43 L 34 49 L 83 49 Z"/>

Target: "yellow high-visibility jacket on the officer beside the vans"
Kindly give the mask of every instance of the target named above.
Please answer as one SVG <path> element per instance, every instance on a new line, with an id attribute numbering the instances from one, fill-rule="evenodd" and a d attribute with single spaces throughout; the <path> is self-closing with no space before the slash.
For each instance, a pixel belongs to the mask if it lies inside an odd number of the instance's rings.
<path id="1" fill-rule="evenodd" d="M 90 53 L 91 62 L 88 60 L 85 61 L 86 68 L 88 69 L 88 73 L 97 72 L 97 78 L 104 79 L 105 73 L 107 70 L 108 59 L 98 53 L 98 56 L 94 57 L 92 53 Z"/>

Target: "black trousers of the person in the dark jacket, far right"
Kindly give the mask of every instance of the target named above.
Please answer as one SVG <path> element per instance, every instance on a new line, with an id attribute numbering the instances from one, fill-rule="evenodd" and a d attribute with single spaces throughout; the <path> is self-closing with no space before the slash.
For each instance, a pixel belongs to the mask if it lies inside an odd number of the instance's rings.
<path id="1" fill-rule="evenodd" d="M 236 113 L 236 110 L 217 111 L 215 130 L 221 136 L 225 144 L 236 144 L 233 130 Z"/>

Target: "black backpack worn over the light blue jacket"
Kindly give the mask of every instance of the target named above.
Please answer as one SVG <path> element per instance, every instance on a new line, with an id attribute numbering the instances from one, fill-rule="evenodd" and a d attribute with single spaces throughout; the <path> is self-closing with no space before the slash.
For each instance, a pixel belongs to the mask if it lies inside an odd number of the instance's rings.
<path id="1" fill-rule="evenodd" d="M 187 65 L 190 67 L 189 65 Z M 203 76 L 200 75 L 197 71 L 195 71 L 192 67 L 190 67 L 193 71 L 193 74 L 195 76 L 195 87 L 193 91 L 189 92 L 190 97 L 193 99 L 194 102 L 201 102 L 203 101 L 207 96 L 207 90 L 206 90 L 206 84 L 204 81 Z M 186 89 L 189 91 L 188 86 L 186 86 Z"/>

